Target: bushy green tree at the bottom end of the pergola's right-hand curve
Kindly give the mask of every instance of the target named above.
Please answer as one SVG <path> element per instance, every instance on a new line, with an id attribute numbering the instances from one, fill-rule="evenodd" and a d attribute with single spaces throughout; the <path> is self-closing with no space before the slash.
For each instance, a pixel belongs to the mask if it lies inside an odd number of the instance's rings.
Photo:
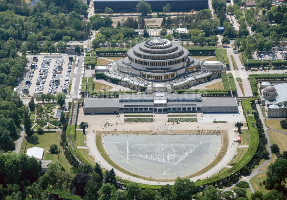
<path id="1" fill-rule="evenodd" d="M 173 185 L 172 197 L 174 200 L 188 200 L 191 199 L 191 195 L 195 194 L 196 188 L 194 182 L 190 179 L 182 179 L 177 177 Z"/>

